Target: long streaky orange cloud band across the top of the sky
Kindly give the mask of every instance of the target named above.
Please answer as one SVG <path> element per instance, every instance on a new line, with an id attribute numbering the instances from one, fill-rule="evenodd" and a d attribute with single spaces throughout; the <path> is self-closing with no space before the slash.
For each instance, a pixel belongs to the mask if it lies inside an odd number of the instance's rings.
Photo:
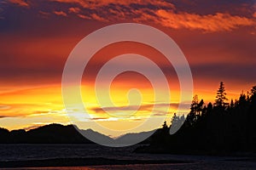
<path id="1" fill-rule="evenodd" d="M 29 7 L 26 1 L 10 0 L 10 3 Z M 38 3 L 33 1 L 34 3 Z M 244 26 L 256 26 L 255 13 L 251 17 L 232 14 L 232 11 L 212 14 L 192 13 L 177 9 L 173 3 L 157 0 L 48 0 L 46 3 L 60 3 L 58 10 L 49 8 L 51 13 L 59 16 L 75 15 L 84 20 L 103 22 L 135 21 L 154 23 L 172 29 L 200 30 L 204 32 L 234 31 Z M 239 5 L 239 4 L 237 4 Z M 49 7 L 51 7 L 49 5 Z M 242 10 L 241 10 L 242 11 Z M 250 10 L 251 11 L 251 10 Z"/>

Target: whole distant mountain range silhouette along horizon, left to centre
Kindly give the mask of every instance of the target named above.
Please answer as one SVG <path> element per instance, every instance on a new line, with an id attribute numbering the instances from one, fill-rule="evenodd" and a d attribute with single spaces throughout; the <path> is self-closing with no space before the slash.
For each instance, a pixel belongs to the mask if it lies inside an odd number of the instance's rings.
<path id="1" fill-rule="evenodd" d="M 80 132 L 79 132 L 80 131 Z M 84 135 L 82 135 L 82 134 Z M 24 129 L 9 131 L 0 127 L 0 143 L 1 144 L 93 144 L 84 136 L 90 136 L 93 139 L 104 139 L 110 144 L 120 143 L 126 144 L 133 139 L 137 139 L 147 135 L 149 132 L 127 133 L 117 139 L 112 139 L 102 133 L 93 131 L 92 129 L 80 130 L 73 125 L 49 124 L 43 127 L 37 127 L 28 131 Z M 144 141 L 147 142 L 147 141 Z"/>

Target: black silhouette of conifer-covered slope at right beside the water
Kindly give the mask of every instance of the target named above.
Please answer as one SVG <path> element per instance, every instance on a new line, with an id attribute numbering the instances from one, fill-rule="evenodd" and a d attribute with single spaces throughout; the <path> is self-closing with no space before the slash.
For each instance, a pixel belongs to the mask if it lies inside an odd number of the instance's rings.
<path id="1" fill-rule="evenodd" d="M 170 135 L 164 122 L 137 152 L 177 154 L 229 154 L 256 151 L 256 86 L 239 99 L 227 103 L 224 82 L 220 82 L 215 102 L 193 98 L 189 115 L 172 117 L 171 126 L 183 126 Z"/>

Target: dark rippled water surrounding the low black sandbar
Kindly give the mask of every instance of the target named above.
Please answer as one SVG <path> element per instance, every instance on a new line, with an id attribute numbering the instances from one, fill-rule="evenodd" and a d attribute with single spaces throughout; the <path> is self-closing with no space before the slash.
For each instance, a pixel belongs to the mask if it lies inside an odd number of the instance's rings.
<path id="1" fill-rule="evenodd" d="M 83 167 L 36 167 L 23 169 L 106 170 L 106 169 L 256 169 L 255 159 L 246 157 L 177 156 L 137 154 L 137 146 L 110 148 L 97 144 L 0 144 L 0 161 L 32 161 L 55 158 L 109 158 L 118 160 L 172 160 L 188 163 L 129 164 Z M 231 161 L 230 161 L 231 160 Z M 253 161 L 254 160 L 254 161 Z M 17 168 L 20 169 L 20 168 Z"/>

